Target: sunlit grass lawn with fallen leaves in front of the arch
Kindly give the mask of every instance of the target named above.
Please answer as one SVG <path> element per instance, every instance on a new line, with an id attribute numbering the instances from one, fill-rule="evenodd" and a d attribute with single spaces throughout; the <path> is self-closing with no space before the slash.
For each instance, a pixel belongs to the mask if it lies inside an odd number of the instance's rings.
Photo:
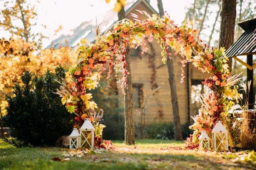
<path id="1" fill-rule="evenodd" d="M 157 139 L 136 140 L 135 146 L 113 141 L 114 150 L 88 153 L 81 158 L 63 159 L 64 149 L 55 147 L 15 148 L 0 140 L 0 169 L 2 170 L 215 170 L 253 169 L 253 164 L 233 163 L 234 154 L 195 150 L 172 150 L 170 146 L 183 146 L 184 142 Z"/>

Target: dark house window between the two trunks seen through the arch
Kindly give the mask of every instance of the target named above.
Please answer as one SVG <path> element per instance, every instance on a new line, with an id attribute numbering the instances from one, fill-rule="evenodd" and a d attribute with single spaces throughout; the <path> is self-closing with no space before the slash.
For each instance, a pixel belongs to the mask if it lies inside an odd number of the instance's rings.
<path id="1" fill-rule="evenodd" d="M 132 84 L 132 91 L 134 106 L 140 108 L 143 103 L 143 84 Z"/>

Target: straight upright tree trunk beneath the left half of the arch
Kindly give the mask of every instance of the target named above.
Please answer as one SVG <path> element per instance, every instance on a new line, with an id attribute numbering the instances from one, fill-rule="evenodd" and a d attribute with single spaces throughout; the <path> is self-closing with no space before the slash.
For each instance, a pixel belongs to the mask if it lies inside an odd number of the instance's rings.
<path id="1" fill-rule="evenodd" d="M 118 13 L 118 20 L 125 18 L 125 7 L 122 6 Z M 134 119 L 133 119 L 133 97 L 131 85 L 131 66 L 130 66 L 130 48 L 127 46 L 125 53 L 127 75 L 127 86 L 125 87 L 125 144 L 135 144 Z"/>

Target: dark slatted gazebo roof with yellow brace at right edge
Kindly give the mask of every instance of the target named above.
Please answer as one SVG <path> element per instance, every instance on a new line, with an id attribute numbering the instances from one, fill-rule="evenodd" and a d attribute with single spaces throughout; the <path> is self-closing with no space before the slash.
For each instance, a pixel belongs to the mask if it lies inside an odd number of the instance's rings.
<path id="1" fill-rule="evenodd" d="M 236 56 L 256 54 L 256 18 L 238 23 L 238 25 L 244 30 L 244 33 L 241 34 L 239 39 L 226 51 L 226 56 L 233 57 L 251 70 L 256 64 L 252 66 L 247 65 L 247 63 L 236 58 Z"/>

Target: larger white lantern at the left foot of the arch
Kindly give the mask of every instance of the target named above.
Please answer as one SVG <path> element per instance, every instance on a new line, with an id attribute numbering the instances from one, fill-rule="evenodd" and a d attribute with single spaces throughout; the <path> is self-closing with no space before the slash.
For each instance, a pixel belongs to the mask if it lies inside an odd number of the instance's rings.
<path id="1" fill-rule="evenodd" d="M 84 147 L 89 144 L 90 148 L 94 145 L 94 131 L 95 128 L 90 122 L 90 119 L 85 119 L 84 124 L 80 128 L 80 147 Z"/>

